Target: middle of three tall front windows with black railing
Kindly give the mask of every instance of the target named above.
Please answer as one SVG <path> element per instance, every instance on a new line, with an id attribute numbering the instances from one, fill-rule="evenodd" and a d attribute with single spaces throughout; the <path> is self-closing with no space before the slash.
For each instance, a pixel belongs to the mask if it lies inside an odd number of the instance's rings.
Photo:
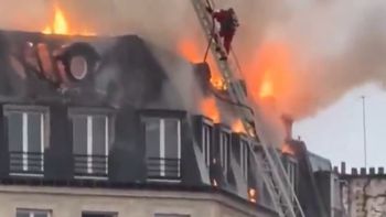
<path id="1" fill-rule="evenodd" d="M 92 113 L 85 113 L 85 112 Z M 112 121 L 107 112 L 73 109 L 74 170 L 77 177 L 106 177 Z"/>

